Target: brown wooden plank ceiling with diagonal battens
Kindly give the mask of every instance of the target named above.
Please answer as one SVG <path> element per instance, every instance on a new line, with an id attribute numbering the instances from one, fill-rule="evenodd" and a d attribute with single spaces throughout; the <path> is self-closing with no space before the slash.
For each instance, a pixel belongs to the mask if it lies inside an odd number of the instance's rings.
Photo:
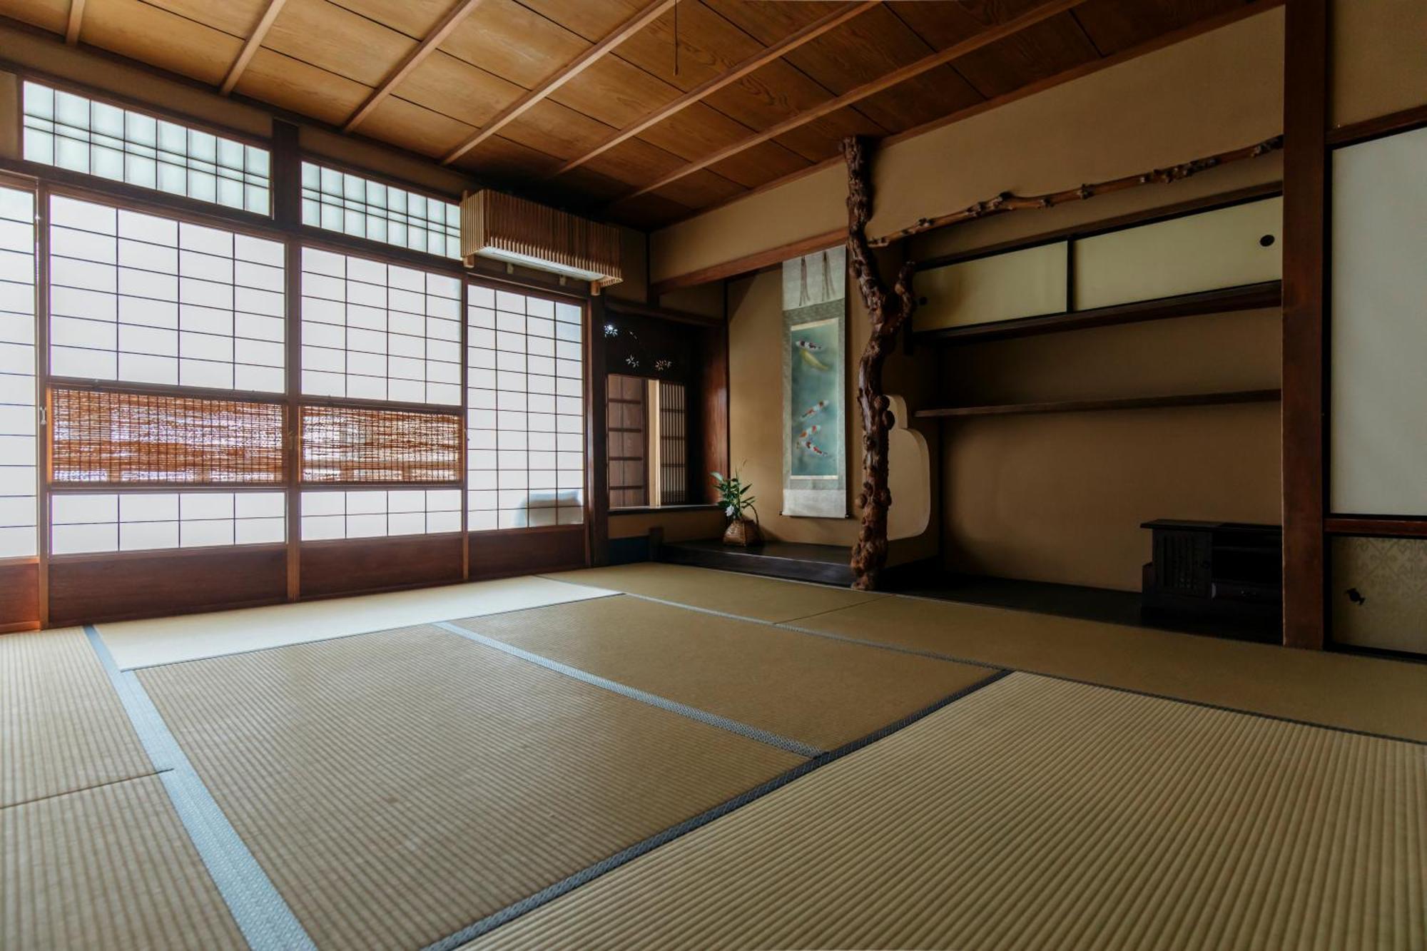
<path id="1" fill-rule="evenodd" d="M 656 227 L 1246 0 L 0 0 L 0 14 Z M 676 40 L 676 41 L 675 41 Z"/>

